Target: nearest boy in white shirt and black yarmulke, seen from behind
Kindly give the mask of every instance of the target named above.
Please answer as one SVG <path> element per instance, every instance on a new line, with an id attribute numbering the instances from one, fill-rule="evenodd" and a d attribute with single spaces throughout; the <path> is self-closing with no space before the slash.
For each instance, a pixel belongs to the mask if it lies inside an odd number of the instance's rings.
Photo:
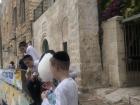
<path id="1" fill-rule="evenodd" d="M 56 52 L 50 60 L 53 77 L 60 81 L 54 91 L 53 105 L 78 105 L 78 89 L 75 81 L 69 78 L 70 58 L 64 51 Z M 49 93 L 42 93 L 42 105 L 52 105 Z"/>

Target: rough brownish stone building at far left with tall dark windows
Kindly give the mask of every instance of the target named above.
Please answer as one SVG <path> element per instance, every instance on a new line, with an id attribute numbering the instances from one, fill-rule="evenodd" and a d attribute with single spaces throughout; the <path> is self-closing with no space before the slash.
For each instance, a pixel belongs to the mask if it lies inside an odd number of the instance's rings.
<path id="1" fill-rule="evenodd" d="M 2 47 L 3 65 L 10 61 L 18 62 L 20 54 L 18 43 L 32 41 L 32 21 L 34 9 L 41 0 L 3 0 L 2 1 Z"/>

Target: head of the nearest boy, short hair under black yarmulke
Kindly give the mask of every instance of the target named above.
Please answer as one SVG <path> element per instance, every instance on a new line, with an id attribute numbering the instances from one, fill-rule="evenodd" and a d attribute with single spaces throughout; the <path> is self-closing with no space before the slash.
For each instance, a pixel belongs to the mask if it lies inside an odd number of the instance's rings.
<path id="1" fill-rule="evenodd" d="M 62 70 L 69 70 L 70 58 L 65 51 L 56 52 L 51 58 L 51 65 Z"/>

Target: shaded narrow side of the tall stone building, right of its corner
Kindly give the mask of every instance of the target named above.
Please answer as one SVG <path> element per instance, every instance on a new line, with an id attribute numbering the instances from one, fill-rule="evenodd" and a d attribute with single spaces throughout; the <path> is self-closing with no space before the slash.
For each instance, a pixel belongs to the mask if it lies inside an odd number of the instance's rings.
<path id="1" fill-rule="evenodd" d="M 81 88 L 88 92 L 101 86 L 101 55 L 97 0 L 78 0 Z"/>

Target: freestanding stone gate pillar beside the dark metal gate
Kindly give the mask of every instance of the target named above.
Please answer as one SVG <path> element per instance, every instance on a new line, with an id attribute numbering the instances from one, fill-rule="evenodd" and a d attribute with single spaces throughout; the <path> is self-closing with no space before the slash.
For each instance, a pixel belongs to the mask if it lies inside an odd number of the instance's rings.
<path id="1" fill-rule="evenodd" d="M 121 87 L 126 82 L 124 35 L 122 17 L 103 23 L 103 83 Z"/>

